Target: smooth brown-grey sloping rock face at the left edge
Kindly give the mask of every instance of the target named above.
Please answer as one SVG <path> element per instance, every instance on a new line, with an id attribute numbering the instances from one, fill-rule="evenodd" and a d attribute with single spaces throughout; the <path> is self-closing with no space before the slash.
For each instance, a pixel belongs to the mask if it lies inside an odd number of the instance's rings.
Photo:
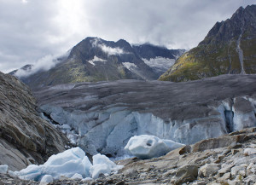
<path id="1" fill-rule="evenodd" d="M 63 151 L 65 136 L 41 119 L 25 84 L 0 72 L 0 165 L 20 170 Z"/>

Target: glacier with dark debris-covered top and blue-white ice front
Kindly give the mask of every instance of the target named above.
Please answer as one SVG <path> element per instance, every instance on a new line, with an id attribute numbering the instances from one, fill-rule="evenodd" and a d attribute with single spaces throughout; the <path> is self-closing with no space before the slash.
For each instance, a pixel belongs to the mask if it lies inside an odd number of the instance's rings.
<path id="1" fill-rule="evenodd" d="M 120 80 L 35 90 L 40 111 L 90 154 L 122 155 L 131 136 L 183 144 L 252 127 L 256 75 L 171 83 Z M 117 139 L 118 138 L 118 139 Z"/>

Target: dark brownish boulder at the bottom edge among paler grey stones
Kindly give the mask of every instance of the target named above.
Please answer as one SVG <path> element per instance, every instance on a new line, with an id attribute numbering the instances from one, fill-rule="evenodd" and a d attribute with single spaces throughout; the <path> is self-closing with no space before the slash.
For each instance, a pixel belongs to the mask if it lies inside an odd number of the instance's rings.
<path id="1" fill-rule="evenodd" d="M 198 174 L 196 165 L 185 165 L 179 168 L 172 179 L 174 184 L 182 184 L 184 182 L 193 182 Z"/>

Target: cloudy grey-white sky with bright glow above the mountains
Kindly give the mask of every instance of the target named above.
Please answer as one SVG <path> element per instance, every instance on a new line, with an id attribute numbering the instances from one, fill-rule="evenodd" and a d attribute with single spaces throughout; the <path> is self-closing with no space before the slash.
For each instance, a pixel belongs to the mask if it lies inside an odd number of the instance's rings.
<path id="1" fill-rule="evenodd" d="M 86 37 L 191 49 L 250 4 L 256 0 L 0 0 L 0 71 L 54 58 Z"/>

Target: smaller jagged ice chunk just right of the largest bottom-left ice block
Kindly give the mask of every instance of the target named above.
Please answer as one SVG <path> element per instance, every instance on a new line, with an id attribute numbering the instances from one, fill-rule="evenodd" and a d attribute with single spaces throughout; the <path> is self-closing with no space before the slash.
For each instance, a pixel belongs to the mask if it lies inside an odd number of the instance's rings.
<path id="1" fill-rule="evenodd" d="M 94 179 L 98 178 L 101 174 L 108 176 L 112 171 L 118 171 L 123 167 L 121 165 L 115 165 L 113 161 L 100 153 L 94 155 L 92 159 L 93 165 L 90 167 L 90 174 Z"/>

